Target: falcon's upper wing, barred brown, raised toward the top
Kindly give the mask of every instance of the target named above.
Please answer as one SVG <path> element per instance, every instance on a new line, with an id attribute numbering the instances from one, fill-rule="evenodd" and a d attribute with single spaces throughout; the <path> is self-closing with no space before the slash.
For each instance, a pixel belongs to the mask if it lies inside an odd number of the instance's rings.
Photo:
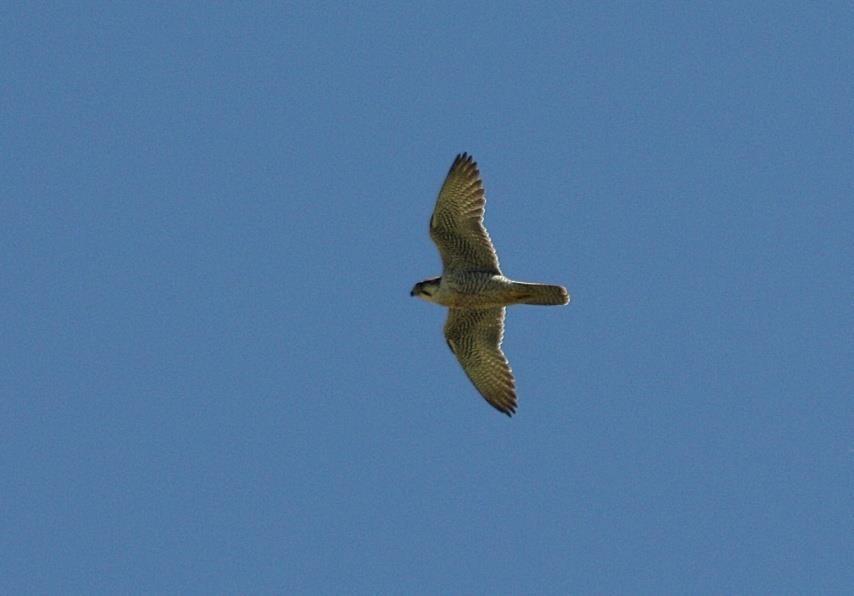
<path id="1" fill-rule="evenodd" d="M 498 255 L 483 225 L 486 197 L 477 164 L 470 155 L 457 155 L 430 218 L 430 238 L 447 271 L 500 274 Z"/>

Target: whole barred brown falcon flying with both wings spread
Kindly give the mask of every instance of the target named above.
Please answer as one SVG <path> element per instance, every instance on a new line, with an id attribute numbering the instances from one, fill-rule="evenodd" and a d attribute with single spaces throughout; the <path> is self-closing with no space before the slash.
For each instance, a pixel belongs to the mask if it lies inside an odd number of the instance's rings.
<path id="1" fill-rule="evenodd" d="M 513 281 L 501 273 L 483 225 L 486 197 L 477 163 L 457 155 L 430 217 L 442 276 L 420 281 L 410 296 L 448 308 L 445 339 L 475 388 L 495 409 L 516 412 L 516 382 L 501 351 L 505 307 L 569 303 L 566 288 Z"/>

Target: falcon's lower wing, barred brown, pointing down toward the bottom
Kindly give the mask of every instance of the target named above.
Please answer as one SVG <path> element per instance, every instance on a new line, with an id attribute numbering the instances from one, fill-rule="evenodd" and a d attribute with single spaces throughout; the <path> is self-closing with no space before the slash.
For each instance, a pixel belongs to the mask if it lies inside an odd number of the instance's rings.
<path id="1" fill-rule="evenodd" d="M 516 382 L 501 351 L 504 308 L 450 308 L 445 339 L 480 394 L 495 409 L 516 412 Z"/>

